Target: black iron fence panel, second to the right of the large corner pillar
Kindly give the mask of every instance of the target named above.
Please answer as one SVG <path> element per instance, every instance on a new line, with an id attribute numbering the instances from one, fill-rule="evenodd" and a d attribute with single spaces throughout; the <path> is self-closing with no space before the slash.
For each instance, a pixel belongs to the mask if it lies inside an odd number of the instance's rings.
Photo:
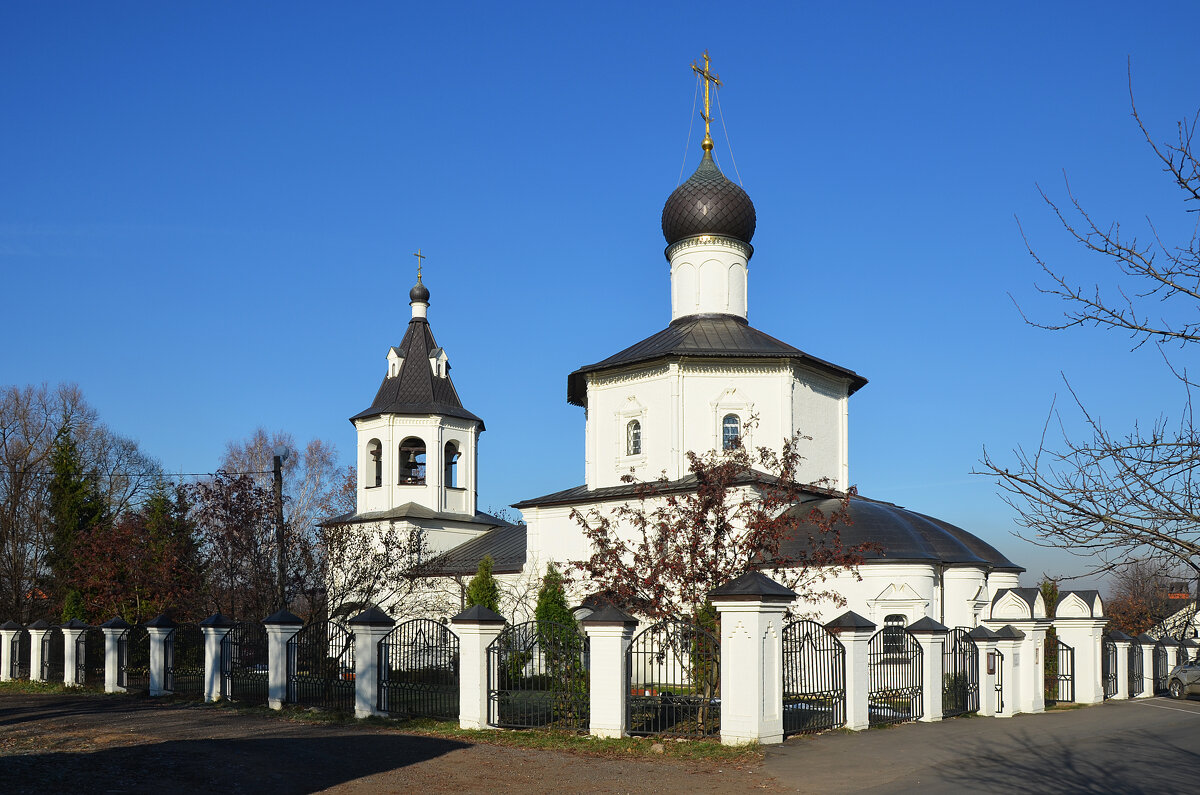
<path id="1" fill-rule="evenodd" d="M 866 712 L 871 725 L 916 721 L 922 706 L 922 651 L 911 632 L 884 626 L 868 645 Z"/>

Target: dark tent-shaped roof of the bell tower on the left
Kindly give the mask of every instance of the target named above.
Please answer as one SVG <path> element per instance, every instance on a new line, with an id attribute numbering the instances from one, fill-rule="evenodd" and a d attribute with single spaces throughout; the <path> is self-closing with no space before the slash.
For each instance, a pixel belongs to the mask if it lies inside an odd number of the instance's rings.
<path id="1" fill-rule="evenodd" d="M 384 377 L 371 406 L 352 417 L 350 422 L 379 414 L 444 414 L 474 420 L 479 423 L 479 430 L 484 430 L 484 420 L 462 407 L 450 376 L 439 378 L 433 375 L 430 352 L 437 347 L 428 322 L 424 317 L 414 317 L 408 323 L 404 339 L 396 346 L 404 357 L 400 373 Z"/>

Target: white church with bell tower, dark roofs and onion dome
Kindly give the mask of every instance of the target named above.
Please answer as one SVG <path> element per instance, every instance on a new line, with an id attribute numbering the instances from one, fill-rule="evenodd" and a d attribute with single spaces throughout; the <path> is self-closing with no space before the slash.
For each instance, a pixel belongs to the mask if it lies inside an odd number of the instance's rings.
<path id="1" fill-rule="evenodd" d="M 589 557 L 574 509 L 606 512 L 635 498 L 637 485 L 622 479 L 629 473 L 653 480 L 665 472 L 667 489 L 686 489 L 689 450 L 719 450 L 733 440 L 778 444 L 803 431 L 811 438 L 799 450 L 800 479 L 850 488 L 850 401 L 866 379 L 750 325 L 755 207 L 716 166 L 708 135 L 702 147 L 700 166 L 662 209 L 671 322 L 568 376 L 568 400 L 584 416 L 583 483 L 517 502 L 524 525 L 478 510 L 484 422 L 458 399 L 419 275 L 412 321 L 388 351 L 379 391 L 350 418 L 358 510 L 332 521 L 420 528 L 438 555 L 431 570 L 460 584 L 485 555 L 502 580 L 535 581 L 548 562 L 566 569 Z M 768 265 L 766 288 L 786 288 L 786 273 Z M 839 503 L 817 490 L 811 500 L 830 510 Z M 880 551 L 856 572 L 833 573 L 824 587 L 832 584 L 844 605 L 797 605 L 803 612 L 829 621 L 853 610 L 878 626 L 930 617 L 949 627 L 979 626 L 1002 600 L 1006 615 L 1021 605 L 1031 618 L 1038 612 L 1036 590 L 1018 590 L 1024 569 L 966 530 L 860 496 L 850 515 L 844 544 L 870 542 Z"/>

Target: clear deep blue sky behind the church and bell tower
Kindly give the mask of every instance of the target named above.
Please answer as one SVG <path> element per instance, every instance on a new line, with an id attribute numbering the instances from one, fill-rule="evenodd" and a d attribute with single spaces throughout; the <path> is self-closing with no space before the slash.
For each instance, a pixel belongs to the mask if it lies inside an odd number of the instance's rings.
<path id="1" fill-rule="evenodd" d="M 1056 306 L 1014 216 L 1085 282 L 1109 274 L 1036 187 L 1061 198 L 1064 171 L 1099 217 L 1190 232 L 1126 62 L 1174 135 L 1198 23 L 1190 2 L 8 2 L 0 383 L 78 382 L 170 471 L 258 425 L 349 462 L 421 247 L 487 422 L 481 507 L 582 483 L 566 373 L 670 321 L 659 215 L 707 48 L 758 211 L 750 321 L 870 378 L 851 479 L 1074 573 L 1012 537 L 970 474 L 984 446 L 1036 444 L 1063 375 L 1114 426 L 1180 395 L 1153 349 L 1022 324 L 1009 294 Z"/>

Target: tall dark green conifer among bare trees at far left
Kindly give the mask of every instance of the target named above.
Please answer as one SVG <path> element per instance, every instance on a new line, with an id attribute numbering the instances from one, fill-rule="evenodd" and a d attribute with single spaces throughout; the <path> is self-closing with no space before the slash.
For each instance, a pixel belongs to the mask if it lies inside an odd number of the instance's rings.
<path id="1" fill-rule="evenodd" d="M 64 423 L 54 438 L 50 473 L 50 575 L 54 590 L 66 599 L 72 590 L 76 543 L 104 519 L 103 495 L 83 471 L 70 423 Z"/>

